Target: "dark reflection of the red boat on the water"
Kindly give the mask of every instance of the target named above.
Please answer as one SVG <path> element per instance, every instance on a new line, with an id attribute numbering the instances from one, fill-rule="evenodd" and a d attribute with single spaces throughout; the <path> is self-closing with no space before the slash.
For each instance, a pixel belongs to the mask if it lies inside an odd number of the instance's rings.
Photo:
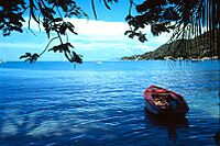
<path id="1" fill-rule="evenodd" d="M 144 109 L 145 120 L 152 126 L 163 126 L 167 128 L 167 137 L 170 141 L 177 139 L 177 130 L 188 127 L 188 119 L 185 115 L 155 115 Z"/>

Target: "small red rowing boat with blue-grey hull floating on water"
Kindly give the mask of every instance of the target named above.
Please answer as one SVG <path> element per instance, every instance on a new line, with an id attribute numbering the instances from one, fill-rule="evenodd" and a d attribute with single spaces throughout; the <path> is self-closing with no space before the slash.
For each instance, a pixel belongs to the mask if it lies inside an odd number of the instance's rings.
<path id="1" fill-rule="evenodd" d="M 180 94 L 157 86 L 148 87 L 143 96 L 147 111 L 154 114 L 186 114 L 189 110 Z"/>

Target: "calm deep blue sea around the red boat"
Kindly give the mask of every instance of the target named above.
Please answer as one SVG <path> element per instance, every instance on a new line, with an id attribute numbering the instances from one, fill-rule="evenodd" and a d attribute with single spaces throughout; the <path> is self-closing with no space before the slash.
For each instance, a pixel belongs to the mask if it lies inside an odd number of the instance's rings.
<path id="1" fill-rule="evenodd" d="M 0 64 L 1 146 L 217 145 L 220 61 Z M 151 85 L 183 94 L 189 112 L 145 111 Z"/>

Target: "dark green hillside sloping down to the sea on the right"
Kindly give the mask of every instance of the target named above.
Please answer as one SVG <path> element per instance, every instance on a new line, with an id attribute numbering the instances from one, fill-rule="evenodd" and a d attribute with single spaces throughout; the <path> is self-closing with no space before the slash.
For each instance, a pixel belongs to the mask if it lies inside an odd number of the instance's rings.
<path id="1" fill-rule="evenodd" d="M 134 55 L 122 57 L 122 60 L 147 60 L 147 59 L 189 59 L 189 58 L 213 58 L 217 55 L 210 52 L 217 48 L 217 37 L 220 37 L 218 31 L 212 31 L 213 35 L 210 37 L 209 32 L 197 36 L 193 40 L 178 40 L 169 44 L 160 46 L 154 52 L 144 53 L 142 55 Z M 215 36 L 215 37 L 213 37 Z M 213 41 L 216 47 L 211 46 L 210 41 Z M 186 47 L 185 47 L 186 46 Z"/>

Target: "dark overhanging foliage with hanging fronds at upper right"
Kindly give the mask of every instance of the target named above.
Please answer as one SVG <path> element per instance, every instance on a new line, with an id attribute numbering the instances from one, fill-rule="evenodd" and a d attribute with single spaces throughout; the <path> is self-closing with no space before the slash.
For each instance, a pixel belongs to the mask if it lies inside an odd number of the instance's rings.
<path id="1" fill-rule="evenodd" d="M 138 12 L 136 15 L 131 13 L 133 7 Z M 185 40 L 208 32 L 206 36 L 210 37 L 207 40 L 210 46 L 204 47 L 202 50 L 208 50 L 210 56 L 220 58 L 219 0 L 144 0 L 141 4 L 130 0 L 130 12 L 125 20 L 130 25 L 125 35 L 131 38 L 138 36 L 141 42 L 147 41 L 146 34 L 142 31 L 147 25 L 151 26 L 151 32 L 155 36 L 163 32 L 173 31 L 173 36 L 168 43 L 182 40 L 179 45 L 182 45 L 183 54 L 179 57 L 189 56 L 186 53 L 190 53 L 190 50 L 186 52 L 190 47 L 186 46 Z M 179 46 L 176 47 L 176 49 L 178 48 Z"/>

